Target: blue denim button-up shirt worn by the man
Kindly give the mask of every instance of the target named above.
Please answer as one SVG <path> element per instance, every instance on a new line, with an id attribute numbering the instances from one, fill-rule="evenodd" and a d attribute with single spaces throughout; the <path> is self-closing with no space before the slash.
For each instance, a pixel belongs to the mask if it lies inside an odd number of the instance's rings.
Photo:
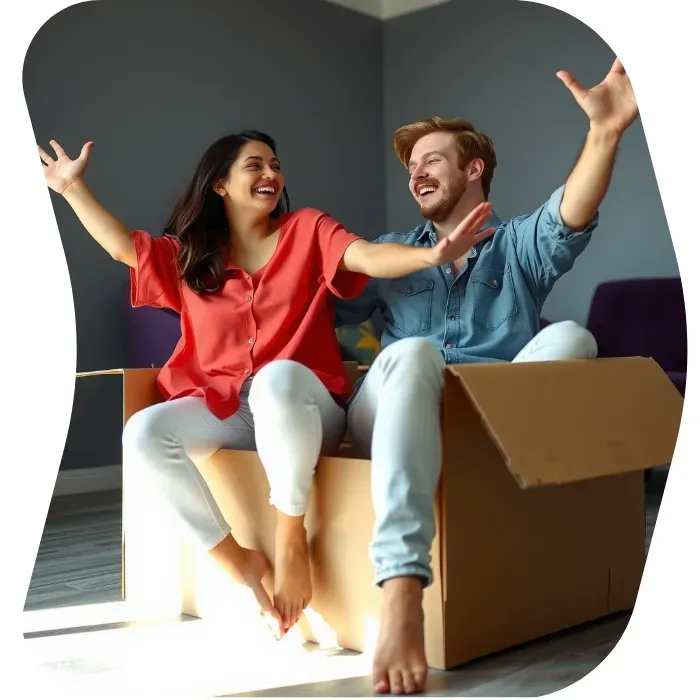
<path id="1" fill-rule="evenodd" d="M 554 283 L 588 245 L 599 214 L 583 231 L 564 225 L 564 186 L 532 214 L 484 228 L 496 232 L 478 243 L 461 271 L 452 263 L 399 279 L 372 279 L 352 300 L 335 300 L 336 326 L 359 324 L 379 310 L 382 348 L 403 338 L 426 338 L 447 364 L 510 362 L 538 333 L 540 311 Z M 408 233 L 387 233 L 374 243 L 432 247 L 432 222 Z"/>

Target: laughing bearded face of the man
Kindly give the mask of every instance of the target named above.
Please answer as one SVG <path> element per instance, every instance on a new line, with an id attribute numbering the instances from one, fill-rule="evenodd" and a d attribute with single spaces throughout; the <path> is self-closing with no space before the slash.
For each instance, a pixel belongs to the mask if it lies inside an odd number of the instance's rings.
<path id="1" fill-rule="evenodd" d="M 452 134 L 437 131 L 416 142 L 408 163 L 409 189 L 423 218 L 442 223 L 467 191 L 469 178 L 459 167 Z"/>

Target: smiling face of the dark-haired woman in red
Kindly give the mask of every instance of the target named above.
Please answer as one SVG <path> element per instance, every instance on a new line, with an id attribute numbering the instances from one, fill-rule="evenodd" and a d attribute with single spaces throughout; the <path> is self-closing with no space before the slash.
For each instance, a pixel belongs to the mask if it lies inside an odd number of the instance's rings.
<path id="1" fill-rule="evenodd" d="M 275 210 L 283 189 L 280 162 L 272 149 L 260 141 L 249 141 L 241 148 L 228 176 L 215 187 L 236 210 L 264 214 Z"/>

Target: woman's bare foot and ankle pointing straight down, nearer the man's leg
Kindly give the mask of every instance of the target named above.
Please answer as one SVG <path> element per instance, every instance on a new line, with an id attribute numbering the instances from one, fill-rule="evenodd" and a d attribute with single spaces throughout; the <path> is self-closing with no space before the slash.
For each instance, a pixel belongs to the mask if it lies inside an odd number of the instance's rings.
<path id="1" fill-rule="evenodd" d="M 289 631 L 311 602 L 311 565 L 304 516 L 277 514 L 275 532 L 275 607 L 282 631 Z"/>

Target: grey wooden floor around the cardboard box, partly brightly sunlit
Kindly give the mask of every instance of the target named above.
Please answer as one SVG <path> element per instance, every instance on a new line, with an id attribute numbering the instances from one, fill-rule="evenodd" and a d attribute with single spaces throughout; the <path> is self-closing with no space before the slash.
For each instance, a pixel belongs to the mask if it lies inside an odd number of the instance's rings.
<path id="1" fill-rule="evenodd" d="M 647 545 L 663 491 L 654 474 Z M 431 696 L 532 697 L 586 676 L 612 650 L 619 615 L 482 659 L 434 671 Z M 25 605 L 25 644 L 54 686 L 74 697 L 104 691 L 186 697 L 367 696 L 371 659 L 321 649 L 293 636 L 275 644 L 240 639 L 231 621 L 129 619 L 121 601 L 119 494 L 55 503 L 47 518 Z M 139 695 L 140 696 L 140 695 Z"/>

